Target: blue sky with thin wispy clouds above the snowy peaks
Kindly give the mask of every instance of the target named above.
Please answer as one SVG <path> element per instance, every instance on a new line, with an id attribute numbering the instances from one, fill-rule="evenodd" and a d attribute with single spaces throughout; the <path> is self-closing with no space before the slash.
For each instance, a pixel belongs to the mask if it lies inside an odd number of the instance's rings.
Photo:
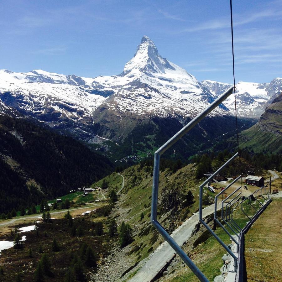
<path id="1" fill-rule="evenodd" d="M 229 1 L 1 1 L 0 68 L 116 75 L 143 35 L 198 80 L 232 83 Z M 235 79 L 282 76 L 282 0 L 233 0 Z"/>

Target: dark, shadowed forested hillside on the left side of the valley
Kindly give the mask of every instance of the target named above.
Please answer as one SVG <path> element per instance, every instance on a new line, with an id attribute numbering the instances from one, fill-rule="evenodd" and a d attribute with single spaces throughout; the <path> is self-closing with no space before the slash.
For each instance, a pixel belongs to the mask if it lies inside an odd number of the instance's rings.
<path id="1" fill-rule="evenodd" d="M 0 212 L 37 204 L 107 175 L 110 161 L 22 118 L 0 117 Z"/>

